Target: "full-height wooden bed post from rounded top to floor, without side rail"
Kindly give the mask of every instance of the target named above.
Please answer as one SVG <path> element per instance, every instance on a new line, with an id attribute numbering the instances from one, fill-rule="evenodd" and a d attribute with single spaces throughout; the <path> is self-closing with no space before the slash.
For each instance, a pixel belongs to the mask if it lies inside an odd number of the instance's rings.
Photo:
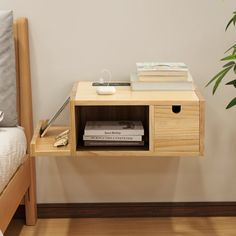
<path id="1" fill-rule="evenodd" d="M 32 92 L 30 77 L 28 20 L 18 18 L 14 22 L 16 51 L 16 85 L 18 122 L 24 127 L 27 139 L 27 154 L 33 136 Z M 37 220 L 35 158 L 29 156 L 30 186 L 24 197 L 26 224 L 35 225 Z"/>

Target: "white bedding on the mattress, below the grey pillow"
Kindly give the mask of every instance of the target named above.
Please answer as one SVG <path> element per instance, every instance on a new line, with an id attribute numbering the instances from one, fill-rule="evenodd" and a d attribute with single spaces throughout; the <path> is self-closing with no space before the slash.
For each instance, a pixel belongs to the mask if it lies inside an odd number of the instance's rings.
<path id="1" fill-rule="evenodd" d="M 0 193 L 23 163 L 26 146 L 22 127 L 0 127 Z"/>

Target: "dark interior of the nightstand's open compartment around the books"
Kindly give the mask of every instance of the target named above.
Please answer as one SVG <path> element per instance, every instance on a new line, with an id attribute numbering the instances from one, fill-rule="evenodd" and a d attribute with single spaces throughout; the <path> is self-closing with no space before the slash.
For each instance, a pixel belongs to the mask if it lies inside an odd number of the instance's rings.
<path id="1" fill-rule="evenodd" d="M 141 121 L 144 127 L 144 146 L 84 146 L 83 135 L 87 121 Z M 76 150 L 77 151 L 148 151 L 149 150 L 149 106 L 76 106 L 75 107 Z"/>

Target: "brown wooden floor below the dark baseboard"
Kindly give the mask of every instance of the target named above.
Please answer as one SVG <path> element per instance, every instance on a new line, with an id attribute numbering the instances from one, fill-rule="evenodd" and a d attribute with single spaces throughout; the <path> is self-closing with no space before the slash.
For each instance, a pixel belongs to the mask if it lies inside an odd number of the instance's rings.
<path id="1" fill-rule="evenodd" d="M 14 220 L 4 236 L 235 236 L 236 217 Z"/>

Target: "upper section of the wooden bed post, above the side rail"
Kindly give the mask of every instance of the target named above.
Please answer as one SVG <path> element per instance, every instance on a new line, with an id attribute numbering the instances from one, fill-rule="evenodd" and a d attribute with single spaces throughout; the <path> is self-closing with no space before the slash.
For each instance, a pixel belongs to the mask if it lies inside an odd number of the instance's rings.
<path id="1" fill-rule="evenodd" d="M 14 22 L 16 50 L 17 111 L 19 124 L 24 127 L 28 144 L 33 135 L 32 93 L 29 60 L 28 20 L 19 18 Z"/>

